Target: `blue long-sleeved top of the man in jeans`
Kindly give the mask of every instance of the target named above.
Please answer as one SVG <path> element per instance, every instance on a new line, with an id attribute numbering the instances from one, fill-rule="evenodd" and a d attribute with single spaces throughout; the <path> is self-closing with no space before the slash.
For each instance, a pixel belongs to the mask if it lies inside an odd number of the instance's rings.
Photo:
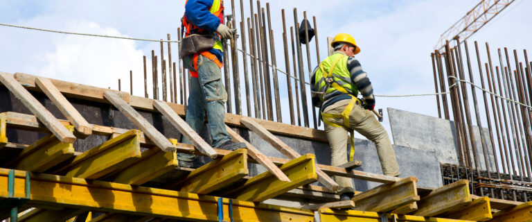
<path id="1" fill-rule="evenodd" d="M 199 28 L 214 33 L 220 25 L 220 19 L 209 12 L 213 2 L 214 0 L 188 0 L 185 6 L 185 15 L 188 21 Z M 222 62 L 222 51 L 218 49 L 209 49 L 208 51 Z"/>

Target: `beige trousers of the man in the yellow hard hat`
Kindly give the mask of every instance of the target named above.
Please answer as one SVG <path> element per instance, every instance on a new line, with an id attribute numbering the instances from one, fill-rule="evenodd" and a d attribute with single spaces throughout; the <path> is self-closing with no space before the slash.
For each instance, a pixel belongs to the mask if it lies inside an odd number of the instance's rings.
<path id="1" fill-rule="evenodd" d="M 338 101 L 329 105 L 324 113 L 341 114 L 346 109 L 349 100 Z M 332 123 L 344 126 L 344 119 L 329 119 Z M 393 152 L 388 133 L 369 110 L 364 110 L 362 105 L 355 104 L 351 114 L 349 114 L 349 127 L 375 143 L 377 155 L 379 157 L 382 172 L 387 176 L 398 176 L 399 165 L 396 154 Z M 325 133 L 330 144 L 330 164 L 339 166 L 348 161 L 347 141 L 349 139 L 348 130 L 342 127 L 329 126 L 325 123 Z M 356 159 L 356 158 L 355 158 Z M 353 191 L 353 179 L 334 176 L 338 183 L 338 194 Z"/>

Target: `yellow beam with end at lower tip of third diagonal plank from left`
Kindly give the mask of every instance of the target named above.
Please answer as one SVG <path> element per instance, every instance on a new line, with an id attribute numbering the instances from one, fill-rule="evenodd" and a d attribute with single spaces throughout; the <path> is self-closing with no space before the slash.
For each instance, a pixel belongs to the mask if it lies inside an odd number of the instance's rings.
<path id="1" fill-rule="evenodd" d="M 169 140 L 172 144 L 177 143 L 177 139 Z M 164 152 L 160 148 L 150 148 L 148 151 L 141 153 L 141 158 L 138 162 L 134 162 L 130 167 L 118 173 L 113 182 L 127 185 L 143 185 L 145 182 L 178 167 L 177 162 L 175 152 Z"/>

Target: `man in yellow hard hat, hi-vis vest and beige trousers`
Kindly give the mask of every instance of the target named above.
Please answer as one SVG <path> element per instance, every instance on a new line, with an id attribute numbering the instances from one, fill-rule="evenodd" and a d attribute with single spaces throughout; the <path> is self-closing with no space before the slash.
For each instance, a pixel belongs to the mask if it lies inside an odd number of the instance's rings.
<path id="1" fill-rule="evenodd" d="M 360 53 L 360 48 L 351 35 L 344 33 L 336 35 L 331 46 L 334 53 L 314 69 L 310 78 L 312 105 L 321 110 L 330 144 L 330 164 L 339 166 L 347 162 L 348 132 L 351 133 L 349 161 L 353 161 L 353 130 L 357 130 L 375 143 L 384 174 L 398 176 L 399 166 L 388 133 L 371 112 L 375 108 L 373 87 L 360 62 L 354 58 Z M 362 94 L 364 103 L 357 99 L 358 92 Z M 340 198 L 351 199 L 353 180 L 335 176 L 335 181 L 339 185 L 337 194 Z"/>

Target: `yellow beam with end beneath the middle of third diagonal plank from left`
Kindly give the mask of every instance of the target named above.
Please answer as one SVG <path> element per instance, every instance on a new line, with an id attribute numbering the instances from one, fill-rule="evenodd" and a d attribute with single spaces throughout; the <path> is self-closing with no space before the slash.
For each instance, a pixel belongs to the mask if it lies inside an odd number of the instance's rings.
<path id="1" fill-rule="evenodd" d="M 129 166 L 141 157 L 141 131 L 129 130 L 78 155 L 65 167 L 67 177 L 96 179 Z"/>

